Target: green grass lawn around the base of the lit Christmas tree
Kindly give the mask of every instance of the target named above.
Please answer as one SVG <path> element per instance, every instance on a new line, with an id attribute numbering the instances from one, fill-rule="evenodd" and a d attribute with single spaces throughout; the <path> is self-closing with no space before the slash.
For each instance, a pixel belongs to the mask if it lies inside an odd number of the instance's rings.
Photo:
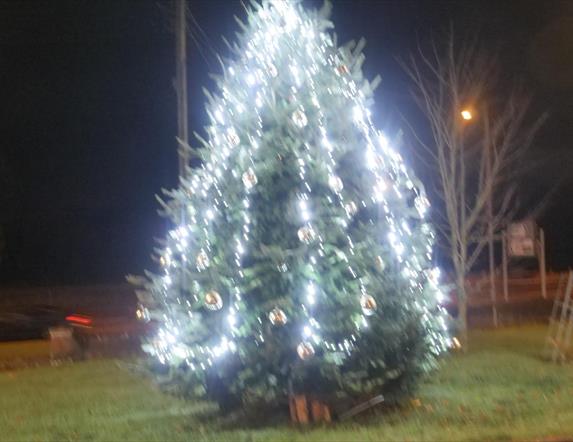
<path id="1" fill-rule="evenodd" d="M 540 359 L 545 328 L 475 332 L 468 354 L 400 411 L 296 429 L 221 429 L 206 405 L 166 396 L 114 361 L 0 373 L 0 439 L 64 440 L 560 440 L 573 437 L 573 367 Z"/>

